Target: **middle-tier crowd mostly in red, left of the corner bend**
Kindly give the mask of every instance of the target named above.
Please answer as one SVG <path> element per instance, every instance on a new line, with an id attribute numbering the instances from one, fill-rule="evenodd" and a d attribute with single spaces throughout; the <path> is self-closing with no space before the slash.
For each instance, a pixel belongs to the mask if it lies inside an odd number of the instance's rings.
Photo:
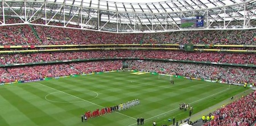
<path id="1" fill-rule="evenodd" d="M 131 57 L 133 51 L 66 51 L 51 53 L 1 54 L 0 64 L 50 62 L 56 60 Z"/>

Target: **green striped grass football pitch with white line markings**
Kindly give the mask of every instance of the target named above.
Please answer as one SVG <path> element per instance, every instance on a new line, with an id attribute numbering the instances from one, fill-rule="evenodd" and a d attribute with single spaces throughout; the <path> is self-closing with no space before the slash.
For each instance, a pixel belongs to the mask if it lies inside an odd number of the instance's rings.
<path id="1" fill-rule="evenodd" d="M 205 81 L 109 72 L 0 86 L 0 125 L 144 125 L 171 124 L 168 119 L 188 118 L 179 104 L 189 103 L 193 114 L 239 94 L 242 86 Z M 141 103 L 81 122 L 81 114 L 138 98 Z"/>

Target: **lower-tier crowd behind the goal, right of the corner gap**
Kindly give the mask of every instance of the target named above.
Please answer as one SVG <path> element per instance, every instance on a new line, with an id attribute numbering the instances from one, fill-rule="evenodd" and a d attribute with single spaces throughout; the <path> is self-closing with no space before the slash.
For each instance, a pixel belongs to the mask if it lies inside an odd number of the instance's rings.
<path id="1" fill-rule="evenodd" d="M 162 62 L 162 61 L 127 61 L 130 69 L 144 72 L 158 72 L 171 75 L 194 77 L 205 80 L 220 80 L 224 82 L 256 83 L 256 69 L 247 67 L 218 66 L 209 64 Z M 164 69 L 164 70 L 163 70 Z"/>

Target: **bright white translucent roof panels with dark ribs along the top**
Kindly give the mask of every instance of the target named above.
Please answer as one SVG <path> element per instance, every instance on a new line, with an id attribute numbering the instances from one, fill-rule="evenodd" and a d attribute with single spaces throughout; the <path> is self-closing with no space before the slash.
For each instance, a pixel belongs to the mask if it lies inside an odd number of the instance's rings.
<path id="1" fill-rule="evenodd" d="M 38 0 L 40 1 L 40 0 Z M 42 0 L 44 1 L 44 0 Z M 120 2 L 118 0 L 48 0 L 47 2 L 65 3 L 66 5 L 77 5 L 92 8 L 101 8 L 109 11 L 121 12 L 180 12 L 196 11 L 210 8 L 221 8 L 223 6 L 240 5 L 248 0 L 140 0 Z"/>

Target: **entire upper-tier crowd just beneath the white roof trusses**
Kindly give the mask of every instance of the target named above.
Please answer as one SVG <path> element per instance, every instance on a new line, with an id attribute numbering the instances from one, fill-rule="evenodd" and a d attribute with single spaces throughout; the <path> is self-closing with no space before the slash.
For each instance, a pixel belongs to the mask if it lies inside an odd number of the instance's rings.
<path id="1" fill-rule="evenodd" d="M 19 19 L 6 20 L 20 23 Z M 46 24 L 36 20 L 36 24 Z M 63 26 L 62 23 L 50 22 L 51 26 Z M 1 45 L 67 45 L 67 44 L 221 44 L 221 45 L 256 45 L 256 30 L 232 31 L 180 31 L 164 33 L 107 33 L 85 31 L 71 28 L 57 28 L 33 25 L 39 38 L 36 38 L 28 25 L 4 26 L 1 29 Z M 80 28 L 79 25 L 68 27 Z M 42 41 L 42 42 L 41 42 Z"/>

